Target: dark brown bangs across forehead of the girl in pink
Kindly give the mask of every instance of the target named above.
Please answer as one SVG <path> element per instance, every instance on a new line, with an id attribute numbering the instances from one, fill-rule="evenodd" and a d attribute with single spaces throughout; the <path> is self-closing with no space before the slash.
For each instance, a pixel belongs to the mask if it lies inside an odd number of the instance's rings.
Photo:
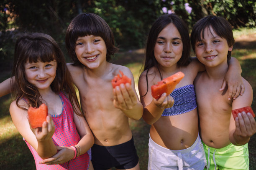
<path id="1" fill-rule="evenodd" d="M 50 62 L 53 61 L 53 47 L 48 43 L 33 42 L 31 46 L 25 51 L 24 56 L 27 56 L 28 62 Z"/>

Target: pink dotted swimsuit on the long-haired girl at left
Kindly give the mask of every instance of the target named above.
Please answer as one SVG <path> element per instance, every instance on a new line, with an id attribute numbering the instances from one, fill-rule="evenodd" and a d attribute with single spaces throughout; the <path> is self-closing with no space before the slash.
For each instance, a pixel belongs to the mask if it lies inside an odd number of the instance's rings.
<path id="1" fill-rule="evenodd" d="M 59 97 L 62 102 L 62 112 L 60 115 L 51 115 L 55 125 L 55 132 L 52 139 L 56 146 L 69 147 L 77 145 L 80 140 L 80 136 L 77 132 L 76 125 L 74 124 L 72 105 L 63 92 L 59 93 Z M 39 164 L 39 161 L 42 159 L 29 143 L 26 142 L 26 144 L 33 154 L 37 170 L 87 170 L 89 168 L 88 153 L 84 153 L 74 160 L 69 160 L 67 163 L 59 165 Z"/>

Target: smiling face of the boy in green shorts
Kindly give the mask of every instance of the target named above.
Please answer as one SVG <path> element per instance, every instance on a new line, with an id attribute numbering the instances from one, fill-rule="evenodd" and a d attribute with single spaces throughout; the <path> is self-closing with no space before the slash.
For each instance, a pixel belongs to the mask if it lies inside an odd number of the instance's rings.
<path id="1" fill-rule="evenodd" d="M 202 41 L 195 43 L 195 54 L 200 62 L 208 67 L 215 67 L 220 63 L 227 63 L 228 51 L 231 51 L 233 46 L 228 47 L 226 39 L 220 37 L 216 32 L 210 28 L 203 30 L 204 37 Z"/>

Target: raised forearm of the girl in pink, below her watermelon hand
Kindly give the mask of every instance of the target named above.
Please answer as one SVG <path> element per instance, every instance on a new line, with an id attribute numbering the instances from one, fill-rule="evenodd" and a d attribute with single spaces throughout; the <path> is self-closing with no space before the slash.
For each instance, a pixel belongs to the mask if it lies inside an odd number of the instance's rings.
<path id="1" fill-rule="evenodd" d="M 37 153 L 42 159 L 50 158 L 57 153 L 56 146 L 52 139 L 38 141 Z"/>

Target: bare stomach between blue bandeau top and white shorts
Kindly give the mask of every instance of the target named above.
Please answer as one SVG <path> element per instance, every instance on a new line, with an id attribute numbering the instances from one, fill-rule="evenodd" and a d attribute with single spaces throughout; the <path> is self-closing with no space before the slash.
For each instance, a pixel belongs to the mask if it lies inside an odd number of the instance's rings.
<path id="1" fill-rule="evenodd" d="M 170 150 L 189 148 L 198 136 L 197 113 L 162 116 L 151 125 L 150 136 L 155 143 Z"/>

